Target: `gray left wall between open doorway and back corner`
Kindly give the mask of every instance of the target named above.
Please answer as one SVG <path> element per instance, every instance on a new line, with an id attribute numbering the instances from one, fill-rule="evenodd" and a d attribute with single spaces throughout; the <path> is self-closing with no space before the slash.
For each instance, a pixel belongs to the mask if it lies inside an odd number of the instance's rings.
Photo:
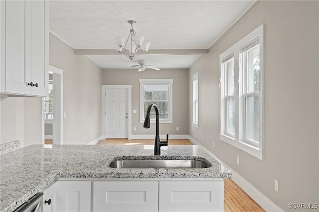
<path id="1" fill-rule="evenodd" d="M 64 144 L 86 144 L 102 135 L 101 69 L 52 33 L 49 45 L 49 64 L 63 70 Z"/>

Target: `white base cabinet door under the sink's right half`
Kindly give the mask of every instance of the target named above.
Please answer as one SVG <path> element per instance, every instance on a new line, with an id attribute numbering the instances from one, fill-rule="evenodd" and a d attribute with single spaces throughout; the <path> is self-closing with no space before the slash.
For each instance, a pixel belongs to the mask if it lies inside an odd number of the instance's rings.
<path id="1" fill-rule="evenodd" d="M 160 212 L 222 212 L 224 182 L 160 181 Z"/>

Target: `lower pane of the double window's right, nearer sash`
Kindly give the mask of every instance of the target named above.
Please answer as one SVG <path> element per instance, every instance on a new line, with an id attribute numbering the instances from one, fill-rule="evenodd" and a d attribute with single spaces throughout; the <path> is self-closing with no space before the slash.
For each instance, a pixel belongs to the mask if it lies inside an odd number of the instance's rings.
<path id="1" fill-rule="evenodd" d="M 245 98 L 246 139 L 259 143 L 259 96 Z"/>

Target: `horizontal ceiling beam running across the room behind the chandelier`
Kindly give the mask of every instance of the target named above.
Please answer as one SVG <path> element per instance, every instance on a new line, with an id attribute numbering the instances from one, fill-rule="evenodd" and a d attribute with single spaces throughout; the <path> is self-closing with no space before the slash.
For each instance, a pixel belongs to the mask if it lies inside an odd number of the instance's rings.
<path id="1" fill-rule="evenodd" d="M 75 49 L 76 55 L 118 55 L 115 49 Z M 162 55 L 205 55 L 208 49 L 150 49 L 148 54 Z"/>

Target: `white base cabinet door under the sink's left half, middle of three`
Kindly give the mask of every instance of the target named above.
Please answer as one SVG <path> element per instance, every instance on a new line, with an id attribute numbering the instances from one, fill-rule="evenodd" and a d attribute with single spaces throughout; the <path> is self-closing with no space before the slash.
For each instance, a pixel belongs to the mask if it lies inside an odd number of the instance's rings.
<path id="1" fill-rule="evenodd" d="M 94 212 L 158 212 L 158 181 L 96 181 Z"/>

